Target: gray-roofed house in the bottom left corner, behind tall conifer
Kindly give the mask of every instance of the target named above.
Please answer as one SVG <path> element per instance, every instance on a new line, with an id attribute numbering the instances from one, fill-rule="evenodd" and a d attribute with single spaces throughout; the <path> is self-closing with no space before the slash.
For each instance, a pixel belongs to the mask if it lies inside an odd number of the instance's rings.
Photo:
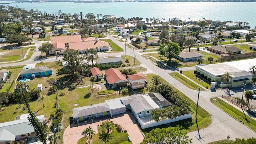
<path id="1" fill-rule="evenodd" d="M 40 122 L 43 122 L 44 115 L 37 116 L 36 118 L 38 118 Z M 24 118 L 20 120 L 1 123 L 0 132 L 1 132 L 0 140 L 2 141 L 6 139 L 5 137 L 6 133 L 2 135 L 2 133 L 4 132 L 7 132 L 9 134 L 12 133 L 14 136 L 18 136 L 20 134 L 27 134 L 30 132 L 34 132 L 34 128 L 32 125 L 30 125 L 30 122 L 28 121 L 28 119 Z M 12 134 L 10 134 L 10 136 L 8 136 L 7 138 L 8 139 L 13 138 Z"/>

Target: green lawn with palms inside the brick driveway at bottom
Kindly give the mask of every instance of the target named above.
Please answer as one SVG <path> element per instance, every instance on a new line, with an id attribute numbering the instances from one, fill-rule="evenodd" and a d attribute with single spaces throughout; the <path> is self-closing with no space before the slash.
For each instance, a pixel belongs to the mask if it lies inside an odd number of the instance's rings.
<path id="1" fill-rule="evenodd" d="M 102 136 L 101 131 L 100 131 L 100 126 L 98 127 L 98 131 L 100 133 L 95 134 L 92 137 L 92 144 L 102 144 L 102 139 L 100 137 Z M 128 133 L 124 132 L 118 132 L 116 129 L 113 130 L 113 132 L 110 134 L 110 138 L 106 144 L 132 144 L 132 142 L 128 141 Z M 78 144 L 86 144 L 87 139 L 86 138 L 81 138 L 78 141 Z"/>

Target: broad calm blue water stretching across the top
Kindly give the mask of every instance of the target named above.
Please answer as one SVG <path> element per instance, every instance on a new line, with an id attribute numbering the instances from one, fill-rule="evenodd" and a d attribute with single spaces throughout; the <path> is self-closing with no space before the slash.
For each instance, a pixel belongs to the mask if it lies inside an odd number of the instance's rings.
<path id="1" fill-rule="evenodd" d="M 202 18 L 221 21 L 248 22 L 251 28 L 256 26 L 256 2 L 116 2 L 116 3 L 73 3 L 42 2 L 10 4 L 19 8 L 38 9 L 42 12 L 74 14 L 93 13 L 114 15 L 124 18 L 174 18 L 201 20 Z"/>

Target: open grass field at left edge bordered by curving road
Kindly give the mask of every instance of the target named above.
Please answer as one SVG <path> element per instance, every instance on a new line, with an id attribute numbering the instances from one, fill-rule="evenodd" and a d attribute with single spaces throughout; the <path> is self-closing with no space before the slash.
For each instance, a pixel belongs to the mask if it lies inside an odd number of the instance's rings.
<path id="1" fill-rule="evenodd" d="M 30 48 L 36 48 L 35 46 L 30 46 Z M 0 48 L 1 62 L 8 62 L 8 61 L 15 61 L 15 60 L 22 60 L 22 56 L 25 56 L 26 52 L 28 51 L 29 47 L 24 48 Z M 23 53 L 22 53 L 23 51 Z"/>

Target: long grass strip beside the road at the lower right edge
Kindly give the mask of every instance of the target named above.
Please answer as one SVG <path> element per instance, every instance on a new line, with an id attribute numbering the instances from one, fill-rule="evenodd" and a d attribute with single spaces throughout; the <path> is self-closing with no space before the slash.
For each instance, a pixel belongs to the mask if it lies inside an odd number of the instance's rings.
<path id="1" fill-rule="evenodd" d="M 211 98 L 210 102 L 212 102 L 214 105 L 218 106 L 224 112 L 226 112 L 227 114 L 232 116 L 235 120 L 240 122 L 239 119 L 240 118 L 241 118 L 241 120 L 243 119 L 242 123 L 245 124 L 251 130 L 253 130 L 254 132 L 256 132 L 256 120 L 252 119 L 250 116 L 246 116 L 245 117 L 243 112 L 241 112 L 240 110 L 234 108 L 230 104 L 224 102 L 220 98 L 215 98 L 216 100 L 218 100 L 218 102 L 216 102 L 213 99 L 214 98 Z M 247 120 L 246 120 L 246 118 L 247 118 Z"/>

